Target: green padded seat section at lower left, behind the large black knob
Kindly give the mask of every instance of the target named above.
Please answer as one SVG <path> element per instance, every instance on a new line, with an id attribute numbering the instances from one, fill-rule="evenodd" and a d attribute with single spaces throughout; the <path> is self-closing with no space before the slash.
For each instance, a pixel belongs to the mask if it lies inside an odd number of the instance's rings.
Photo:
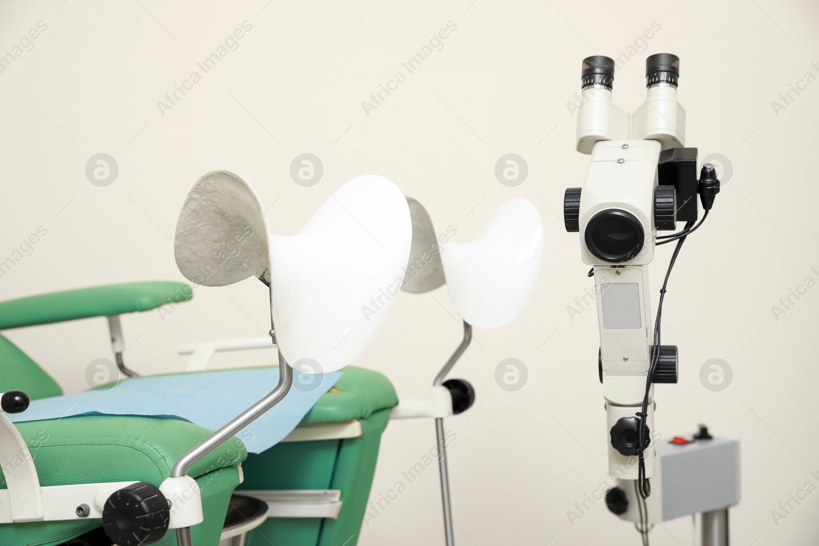
<path id="1" fill-rule="evenodd" d="M 160 485 L 176 459 L 210 435 L 189 422 L 148 417 L 66 417 L 16 426 L 29 445 L 43 486 L 104 481 Z M 205 511 L 205 522 L 192 529 L 195 546 L 218 544 L 230 494 L 239 481 L 237 465 L 246 457 L 244 444 L 234 437 L 188 472 L 200 485 Z M 0 478 L 0 489 L 5 487 Z M 98 526 L 101 520 L 0 525 L 0 544 L 53 546 Z M 174 532 L 156 544 L 175 546 Z"/>

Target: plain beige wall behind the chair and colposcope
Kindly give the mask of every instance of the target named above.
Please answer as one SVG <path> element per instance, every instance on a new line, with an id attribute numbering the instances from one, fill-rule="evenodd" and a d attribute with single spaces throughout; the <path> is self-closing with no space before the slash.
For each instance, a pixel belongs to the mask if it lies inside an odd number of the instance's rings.
<path id="1" fill-rule="evenodd" d="M 0 278 L 0 296 L 182 280 L 171 241 L 176 216 L 188 188 L 210 169 L 241 174 L 265 207 L 275 202 L 268 218 L 283 233 L 295 232 L 359 174 L 391 178 L 439 226 L 455 226 L 457 241 L 475 237 L 502 201 L 527 197 L 546 230 L 532 303 L 509 327 L 475 332 L 455 372 L 473 382 L 479 408 L 447 421 L 458 434 L 451 447 L 457 539 L 638 544 L 633 527 L 603 503 L 573 525 L 568 517 L 604 481 L 606 431 L 595 312 L 572 320 L 567 310 L 592 285 L 560 207 L 563 189 L 581 184 L 588 160 L 574 151 L 568 107 L 579 91 L 581 59 L 625 53 L 614 96 L 631 111 L 645 93 L 645 56 L 673 52 L 681 57 L 690 146 L 701 157 L 729 158 L 733 176 L 669 284 L 663 342 L 680 347 L 681 380 L 658 387 L 657 427 L 674 435 L 706 422 L 742 440 L 733 544 L 816 544 L 819 493 L 792 502 L 778 525 L 771 514 L 808 481 L 819 485 L 811 474 L 819 474 L 819 288 L 792 297 L 785 314 L 771 310 L 806 278 L 819 281 L 819 83 L 801 84 L 807 89 L 792 92 L 784 109 L 771 105 L 806 73 L 819 76 L 816 4 L 472 1 L 4 2 L 0 54 L 13 54 L 38 21 L 48 28 L 0 74 L 0 259 L 38 226 L 48 234 Z M 204 74 L 197 62 L 243 21 L 252 29 L 238 49 Z M 401 62 L 448 21 L 457 29 L 441 51 L 408 74 Z M 653 24 L 661 29 L 645 43 L 637 39 Z M 161 112 L 157 102 L 193 70 L 201 81 Z M 368 115 L 362 101 L 398 70 L 406 80 Z M 324 164 L 314 187 L 289 175 L 293 158 L 305 152 Z M 84 174 L 97 153 L 119 165 L 108 187 Z M 495 161 L 506 153 L 527 161 L 518 187 L 495 179 Z M 668 247 L 658 250 L 654 292 L 669 255 Z M 355 267 L 355 259 L 338 267 Z M 452 314 L 446 288 L 402 293 L 360 365 L 387 374 L 401 396 L 418 394 L 459 342 Z M 157 312 L 124 318 L 133 344 L 127 361 L 144 373 L 179 370 L 176 345 L 259 336 L 267 317 L 260 283 L 201 288 L 164 320 Z M 86 388 L 88 363 L 111 356 L 105 332 L 103 319 L 91 319 L 7 335 L 75 392 Z M 269 357 L 241 354 L 221 363 Z M 495 384 L 495 368 L 507 358 L 528 369 L 517 392 Z M 722 392 L 699 381 L 700 367 L 713 358 L 734 372 Z M 432 422 L 391 423 L 373 499 L 403 481 L 401 472 L 433 444 Z M 439 505 L 430 468 L 364 526 L 360 544 L 442 544 Z M 668 522 L 651 535 L 656 546 L 690 544 L 690 521 Z"/>

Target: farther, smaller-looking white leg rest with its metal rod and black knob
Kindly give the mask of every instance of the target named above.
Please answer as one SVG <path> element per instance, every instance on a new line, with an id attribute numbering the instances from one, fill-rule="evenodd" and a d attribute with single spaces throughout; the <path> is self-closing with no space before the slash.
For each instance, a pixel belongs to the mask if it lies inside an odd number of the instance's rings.
<path id="1" fill-rule="evenodd" d="M 511 323 L 532 297 L 543 258 L 543 224 L 534 205 L 513 199 L 500 205 L 477 239 L 442 246 L 429 214 L 407 198 L 413 223 L 402 290 L 420 294 L 446 283 L 464 322 L 464 338 L 420 399 L 402 400 L 391 418 L 432 417 L 437 436 L 441 502 L 447 546 L 455 544 L 447 470 L 444 417 L 462 413 L 475 400 L 463 379 L 444 381 L 472 340 L 472 328 L 492 329 Z M 441 237 L 442 239 L 442 237 Z"/>

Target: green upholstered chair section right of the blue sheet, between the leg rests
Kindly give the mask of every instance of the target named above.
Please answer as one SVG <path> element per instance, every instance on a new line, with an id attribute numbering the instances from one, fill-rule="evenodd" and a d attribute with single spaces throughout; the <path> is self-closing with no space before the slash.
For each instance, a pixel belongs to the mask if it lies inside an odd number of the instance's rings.
<path id="1" fill-rule="evenodd" d="M 378 372 L 348 366 L 302 419 L 302 424 L 357 419 L 357 438 L 284 442 L 247 457 L 238 490 L 341 490 L 337 519 L 269 518 L 248 536 L 248 546 L 355 546 L 373 485 L 378 444 L 398 404 L 392 384 Z M 287 472 L 281 472 L 281 469 Z"/>

